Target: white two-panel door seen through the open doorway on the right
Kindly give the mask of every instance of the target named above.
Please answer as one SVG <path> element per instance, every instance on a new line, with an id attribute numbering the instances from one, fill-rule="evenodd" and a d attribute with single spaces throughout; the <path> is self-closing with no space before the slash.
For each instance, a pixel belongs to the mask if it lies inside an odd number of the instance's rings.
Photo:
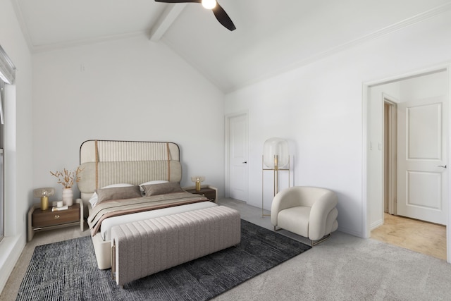
<path id="1" fill-rule="evenodd" d="M 446 224 L 447 102 L 398 104 L 397 214 Z"/>

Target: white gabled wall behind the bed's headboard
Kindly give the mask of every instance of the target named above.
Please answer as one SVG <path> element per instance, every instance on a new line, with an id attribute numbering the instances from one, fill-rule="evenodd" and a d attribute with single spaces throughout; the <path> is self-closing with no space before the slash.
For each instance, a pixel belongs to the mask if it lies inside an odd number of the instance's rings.
<path id="1" fill-rule="evenodd" d="M 49 171 L 78 166 L 85 140 L 143 140 L 178 143 L 182 185 L 200 174 L 223 194 L 223 93 L 164 44 L 137 37 L 35 54 L 33 78 L 34 188 L 61 197 Z"/>

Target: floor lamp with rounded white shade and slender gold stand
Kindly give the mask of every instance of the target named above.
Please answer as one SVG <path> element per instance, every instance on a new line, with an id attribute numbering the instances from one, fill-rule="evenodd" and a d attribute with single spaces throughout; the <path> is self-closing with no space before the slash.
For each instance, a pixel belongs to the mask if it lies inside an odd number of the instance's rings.
<path id="1" fill-rule="evenodd" d="M 273 171 L 274 196 L 279 192 L 279 171 L 288 171 L 288 187 L 290 187 L 290 154 L 288 142 L 282 138 L 270 138 L 263 146 L 261 160 L 261 216 L 264 214 L 264 171 Z"/>

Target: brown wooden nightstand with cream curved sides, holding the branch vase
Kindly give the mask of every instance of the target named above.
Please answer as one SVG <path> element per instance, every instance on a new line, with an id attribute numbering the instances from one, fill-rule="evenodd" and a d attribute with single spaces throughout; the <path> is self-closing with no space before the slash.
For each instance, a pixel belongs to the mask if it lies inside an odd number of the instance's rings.
<path id="1" fill-rule="evenodd" d="M 32 240 L 35 231 L 45 231 L 56 228 L 80 225 L 80 230 L 84 231 L 85 220 L 83 219 L 83 203 L 81 199 L 76 199 L 67 210 L 42 211 L 41 204 L 33 204 L 28 211 L 28 241 Z"/>

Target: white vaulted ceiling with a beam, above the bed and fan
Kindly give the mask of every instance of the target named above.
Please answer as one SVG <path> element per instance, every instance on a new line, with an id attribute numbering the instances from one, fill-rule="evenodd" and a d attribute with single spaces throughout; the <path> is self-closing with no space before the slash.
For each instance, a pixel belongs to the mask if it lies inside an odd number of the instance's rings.
<path id="1" fill-rule="evenodd" d="M 230 32 L 199 4 L 11 0 L 32 52 L 146 36 L 223 92 L 451 9 L 450 0 L 219 0 Z"/>

